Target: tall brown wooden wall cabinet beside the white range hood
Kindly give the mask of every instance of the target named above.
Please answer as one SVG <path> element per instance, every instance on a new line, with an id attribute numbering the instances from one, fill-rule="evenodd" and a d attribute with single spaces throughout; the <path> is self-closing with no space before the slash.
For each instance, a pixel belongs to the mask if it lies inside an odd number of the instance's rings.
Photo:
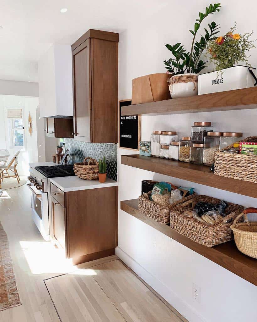
<path id="1" fill-rule="evenodd" d="M 118 142 L 118 42 L 90 29 L 71 46 L 75 140 Z"/>

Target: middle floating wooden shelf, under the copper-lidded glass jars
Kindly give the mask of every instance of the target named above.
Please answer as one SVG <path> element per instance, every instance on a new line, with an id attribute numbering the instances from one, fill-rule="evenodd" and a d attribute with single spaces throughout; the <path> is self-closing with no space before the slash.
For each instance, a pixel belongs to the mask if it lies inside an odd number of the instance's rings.
<path id="1" fill-rule="evenodd" d="M 121 164 L 257 198 L 257 184 L 215 175 L 208 166 L 139 154 L 121 156 Z"/>

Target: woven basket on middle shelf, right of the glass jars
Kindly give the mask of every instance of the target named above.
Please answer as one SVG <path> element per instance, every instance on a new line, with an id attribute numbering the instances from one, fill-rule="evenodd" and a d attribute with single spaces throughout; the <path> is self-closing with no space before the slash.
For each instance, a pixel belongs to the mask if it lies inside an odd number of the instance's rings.
<path id="1" fill-rule="evenodd" d="M 257 137 L 247 137 L 240 142 L 257 142 Z M 233 144 L 223 150 L 232 147 Z M 216 175 L 257 183 L 257 156 L 230 154 L 221 151 L 215 153 L 214 173 Z"/>

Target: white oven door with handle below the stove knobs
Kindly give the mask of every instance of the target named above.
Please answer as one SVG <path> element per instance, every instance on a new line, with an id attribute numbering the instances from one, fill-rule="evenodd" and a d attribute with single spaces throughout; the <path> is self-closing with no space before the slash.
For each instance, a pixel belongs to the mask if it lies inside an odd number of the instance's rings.
<path id="1" fill-rule="evenodd" d="M 31 184 L 27 187 L 31 191 L 32 219 L 43 238 L 49 241 L 48 194 L 41 192 Z"/>

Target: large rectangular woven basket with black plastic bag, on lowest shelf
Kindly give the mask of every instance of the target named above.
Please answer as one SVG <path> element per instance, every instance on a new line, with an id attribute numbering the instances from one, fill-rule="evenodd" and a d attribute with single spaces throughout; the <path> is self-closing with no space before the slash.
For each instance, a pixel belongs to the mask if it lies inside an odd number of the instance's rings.
<path id="1" fill-rule="evenodd" d="M 179 232 L 194 242 L 198 242 L 199 244 L 207 247 L 229 242 L 233 239 L 233 234 L 230 229 L 232 222 L 226 223 L 226 221 L 230 218 L 232 218 L 233 221 L 235 217 L 243 211 L 243 206 L 228 203 L 228 206 L 225 209 L 226 217 L 224 217 L 219 223 L 208 226 L 207 224 L 201 223 L 192 217 L 185 217 L 179 212 L 183 209 L 194 209 L 195 204 L 199 201 L 219 204 L 219 199 L 204 195 L 197 195 L 191 200 L 186 202 L 182 201 L 180 201 L 180 204 L 176 204 L 171 207 L 170 227 L 176 232 Z"/>

